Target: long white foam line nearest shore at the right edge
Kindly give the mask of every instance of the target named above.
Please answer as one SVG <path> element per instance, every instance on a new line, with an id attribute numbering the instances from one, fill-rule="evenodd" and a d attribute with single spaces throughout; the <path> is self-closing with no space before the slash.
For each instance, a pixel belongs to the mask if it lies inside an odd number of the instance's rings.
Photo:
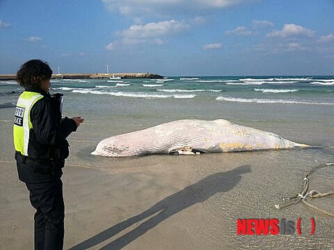
<path id="1" fill-rule="evenodd" d="M 234 97 L 217 97 L 218 101 L 232 101 L 241 103 L 283 103 L 283 104 L 310 104 L 310 105 L 334 105 L 334 103 L 320 103 L 313 101 L 296 101 L 289 99 L 246 99 L 246 98 L 234 98 Z"/>

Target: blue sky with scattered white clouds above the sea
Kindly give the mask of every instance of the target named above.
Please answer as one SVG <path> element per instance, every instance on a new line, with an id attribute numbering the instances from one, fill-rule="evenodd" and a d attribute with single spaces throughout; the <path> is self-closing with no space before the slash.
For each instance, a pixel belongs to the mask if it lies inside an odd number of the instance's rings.
<path id="1" fill-rule="evenodd" d="M 0 0 L 0 74 L 333 75 L 334 0 Z"/>

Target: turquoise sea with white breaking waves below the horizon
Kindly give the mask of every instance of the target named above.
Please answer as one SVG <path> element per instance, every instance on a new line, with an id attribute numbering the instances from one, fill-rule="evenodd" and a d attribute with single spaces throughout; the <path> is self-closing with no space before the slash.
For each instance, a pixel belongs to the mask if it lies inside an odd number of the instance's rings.
<path id="1" fill-rule="evenodd" d="M 164 79 L 52 79 L 51 92 L 145 99 L 334 105 L 334 76 L 201 76 Z M 0 93 L 17 90 L 0 81 Z"/>

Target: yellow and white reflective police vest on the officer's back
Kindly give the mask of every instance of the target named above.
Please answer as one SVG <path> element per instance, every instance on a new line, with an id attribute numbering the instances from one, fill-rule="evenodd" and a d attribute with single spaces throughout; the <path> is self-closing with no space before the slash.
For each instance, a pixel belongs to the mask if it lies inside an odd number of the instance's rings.
<path id="1" fill-rule="evenodd" d="M 17 100 L 13 128 L 14 147 L 22 156 L 28 156 L 29 131 L 33 128 L 30 110 L 36 101 L 42 99 L 38 92 L 24 91 Z"/>

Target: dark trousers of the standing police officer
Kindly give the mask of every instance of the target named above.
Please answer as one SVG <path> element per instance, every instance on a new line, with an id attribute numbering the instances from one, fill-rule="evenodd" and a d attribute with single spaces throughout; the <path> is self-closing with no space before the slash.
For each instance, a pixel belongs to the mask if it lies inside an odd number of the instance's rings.
<path id="1" fill-rule="evenodd" d="M 65 206 L 61 178 L 26 183 L 35 213 L 35 249 L 63 249 Z"/>

